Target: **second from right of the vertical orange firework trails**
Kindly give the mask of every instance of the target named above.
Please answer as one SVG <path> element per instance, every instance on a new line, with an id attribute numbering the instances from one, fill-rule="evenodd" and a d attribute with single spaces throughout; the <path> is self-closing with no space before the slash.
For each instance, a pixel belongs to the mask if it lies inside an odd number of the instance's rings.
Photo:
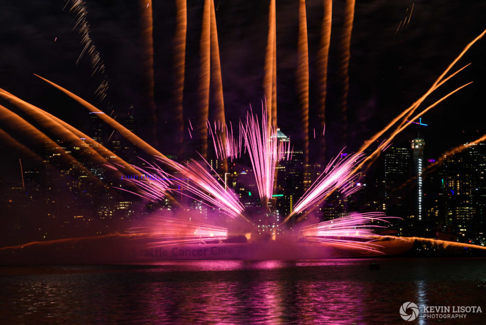
<path id="1" fill-rule="evenodd" d="M 321 28 L 321 48 L 318 53 L 319 70 L 320 70 L 320 107 L 319 107 L 319 124 L 322 129 L 326 127 L 326 95 L 328 83 L 328 62 L 329 48 L 331 43 L 331 23 L 332 23 L 332 0 L 324 0 L 324 17 L 322 18 Z M 319 162 L 325 161 L 326 138 L 324 134 L 320 136 Z"/>

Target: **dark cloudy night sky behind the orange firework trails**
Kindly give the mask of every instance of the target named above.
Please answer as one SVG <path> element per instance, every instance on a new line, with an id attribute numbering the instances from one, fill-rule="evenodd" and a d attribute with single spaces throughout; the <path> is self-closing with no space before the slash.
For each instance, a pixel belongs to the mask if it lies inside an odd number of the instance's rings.
<path id="1" fill-rule="evenodd" d="M 186 84 L 184 114 L 197 114 L 199 38 L 202 0 L 188 1 Z M 330 154 L 342 146 L 342 129 L 337 113 L 338 37 L 343 22 L 343 2 L 334 1 L 331 31 L 326 140 Z M 408 18 L 406 28 L 400 21 Z M 91 63 L 74 28 L 74 14 L 63 10 L 62 0 L 3 1 L 0 10 L 0 88 L 52 112 L 84 132 L 89 132 L 87 110 L 36 78 L 52 80 L 80 95 L 98 108 L 123 116 L 130 106 L 137 114 L 143 108 L 140 15 L 137 1 L 87 1 L 90 36 L 101 55 L 109 89 L 100 101 L 94 91 L 102 81 L 92 74 Z M 236 122 L 251 104 L 260 108 L 263 98 L 263 67 L 268 28 L 268 1 L 216 0 L 226 118 Z M 277 1 L 277 92 L 278 126 L 293 138 L 298 134 L 298 101 L 295 91 L 298 1 Z M 408 12 L 407 12 L 408 10 Z M 153 3 L 155 101 L 160 121 L 161 149 L 171 146 L 164 135 L 173 107 L 175 1 Z M 317 104 L 316 54 L 319 49 L 322 0 L 307 1 L 310 109 Z M 462 49 L 485 28 L 486 1 L 464 0 L 368 0 L 357 1 L 351 40 L 348 97 L 348 151 L 380 130 L 411 105 Z M 441 152 L 486 133 L 483 89 L 486 86 L 486 39 L 470 49 L 456 69 L 472 63 L 454 77 L 441 95 L 469 81 L 459 91 L 423 117 L 428 126 L 413 126 L 397 142 L 417 136 L 426 140 L 425 155 Z M 453 69 L 452 71 L 455 71 Z M 3 102 L 2 102 L 3 103 Z M 427 103 L 432 103 L 428 101 Z M 424 106 L 425 108 L 425 106 Z M 142 126 L 138 126 L 139 128 Z M 312 127 L 312 120 L 311 120 Z M 165 139 L 165 140 L 164 140 Z M 29 144 L 26 144 L 27 146 Z M 8 146 L 1 149 L 2 179 L 17 174 L 20 154 Z M 10 173 L 12 171 L 12 173 Z"/>

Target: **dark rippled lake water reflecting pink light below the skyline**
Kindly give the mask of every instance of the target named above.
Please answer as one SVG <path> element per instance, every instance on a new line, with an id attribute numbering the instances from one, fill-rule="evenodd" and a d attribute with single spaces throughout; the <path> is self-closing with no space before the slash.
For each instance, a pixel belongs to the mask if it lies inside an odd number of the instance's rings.
<path id="1" fill-rule="evenodd" d="M 405 302 L 419 307 L 416 321 L 400 317 Z M 424 306 L 450 306 L 451 310 L 479 306 L 482 312 L 466 313 L 465 319 L 422 319 Z M 0 320 L 15 324 L 486 324 L 486 259 L 4 266 L 0 267 Z"/>

